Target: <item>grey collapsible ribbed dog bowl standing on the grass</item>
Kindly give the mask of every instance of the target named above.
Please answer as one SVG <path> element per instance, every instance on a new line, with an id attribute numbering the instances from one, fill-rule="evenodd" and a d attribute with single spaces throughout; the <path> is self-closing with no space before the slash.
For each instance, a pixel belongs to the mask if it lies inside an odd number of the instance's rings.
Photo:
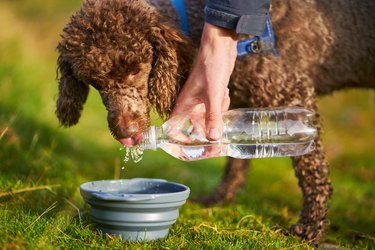
<path id="1" fill-rule="evenodd" d="M 182 184 L 144 178 L 87 182 L 80 191 L 103 235 L 124 241 L 167 237 L 190 194 Z"/>

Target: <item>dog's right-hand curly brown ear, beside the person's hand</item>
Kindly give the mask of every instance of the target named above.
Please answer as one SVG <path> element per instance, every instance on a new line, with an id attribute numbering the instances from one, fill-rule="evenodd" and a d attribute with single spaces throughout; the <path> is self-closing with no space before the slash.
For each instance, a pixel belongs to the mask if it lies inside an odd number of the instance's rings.
<path id="1" fill-rule="evenodd" d="M 154 54 L 149 78 L 149 100 L 159 115 L 166 118 L 190 70 L 191 62 L 186 58 L 189 53 L 182 51 L 190 46 L 182 33 L 167 24 L 158 23 L 151 29 L 150 42 Z"/>

